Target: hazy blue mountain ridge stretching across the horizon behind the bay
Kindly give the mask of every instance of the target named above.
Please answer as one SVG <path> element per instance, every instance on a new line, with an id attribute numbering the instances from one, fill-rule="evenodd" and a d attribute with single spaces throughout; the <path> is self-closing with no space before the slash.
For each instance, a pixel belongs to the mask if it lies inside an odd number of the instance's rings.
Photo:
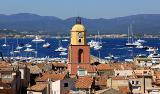
<path id="1" fill-rule="evenodd" d="M 53 34 L 68 34 L 76 17 L 60 19 L 54 16 L 40 16 L 32 13 L 0 14 L 0 28 L 18 32 L 46 31 Z M 129 24 L 133 24 L 135 34 L 159 34 L 160 14 L 137 14 L 112 19 L 88 19 L 82 17 L 88 34 L 126 34 Z"/>

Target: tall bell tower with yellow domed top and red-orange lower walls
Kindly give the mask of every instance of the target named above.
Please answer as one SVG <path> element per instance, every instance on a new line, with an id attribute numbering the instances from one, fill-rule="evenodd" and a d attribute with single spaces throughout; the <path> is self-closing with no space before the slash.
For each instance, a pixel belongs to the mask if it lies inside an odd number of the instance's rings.
<path id="1" fill-rule="evenodd" d="M 68 48 L 68 70 L 71 75 L 77 74 L 79 64 L 90 64 L 90 47 L 86 43 L 86 29 L 77 17 L 71 29 L 71 42 Z"/>

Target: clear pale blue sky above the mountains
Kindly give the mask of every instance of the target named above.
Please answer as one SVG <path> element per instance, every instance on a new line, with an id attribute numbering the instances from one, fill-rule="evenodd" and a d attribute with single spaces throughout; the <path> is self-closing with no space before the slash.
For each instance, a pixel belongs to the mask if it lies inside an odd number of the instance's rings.
<path id="1" fill-rule="evenodd" d="M 160 0 L 1 0 L 0 14 L 34 13 L 62 19 L 115 18 L 136 14 L 160 14 Z"/>

